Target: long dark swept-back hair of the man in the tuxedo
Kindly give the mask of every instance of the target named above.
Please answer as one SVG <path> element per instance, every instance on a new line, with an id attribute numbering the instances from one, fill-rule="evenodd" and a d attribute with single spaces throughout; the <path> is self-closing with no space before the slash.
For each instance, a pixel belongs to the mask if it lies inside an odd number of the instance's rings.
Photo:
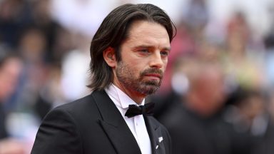
<path id="1" fill-rule="evenodd" d="M 165 11 L 153 4 L 124 4 L 106 16 L 91 41 L 91 90 L 102 90 L 113 81 L 113 72 L 103 59 L 103 51 L 108 47 L 115 50 L 117 61 L 121 61 L 119 47 L 128 37 L 128 29 L 133 21 L 143 20 L 161 24 L 168 32 L 169 40 L 176 35 L 176 27 Z"/>

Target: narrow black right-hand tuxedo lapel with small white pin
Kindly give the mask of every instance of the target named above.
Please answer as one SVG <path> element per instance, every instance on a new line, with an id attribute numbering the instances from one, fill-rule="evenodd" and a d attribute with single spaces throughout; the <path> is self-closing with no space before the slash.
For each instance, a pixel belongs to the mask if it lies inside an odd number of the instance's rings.
<path id="1" fill-rule="evenodd" d="M 153 154 L 165 154 L 165 146 L 163 145 L 163 135 L 161 128 L 149 116 L 145 116 L 146 128 L 148 130 L 149 138 L 151 138 L 151 150 Z"/>

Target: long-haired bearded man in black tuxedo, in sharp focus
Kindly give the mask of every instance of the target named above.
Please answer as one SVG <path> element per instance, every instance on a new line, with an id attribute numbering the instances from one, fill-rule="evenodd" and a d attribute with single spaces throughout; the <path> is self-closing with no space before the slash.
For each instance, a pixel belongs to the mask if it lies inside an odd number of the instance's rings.
<path id="1" fill-rule="evenodd" d="M 171 153 L 166 128 L 143 104 L 161 85 L 174 30 L 152 4 L 111 11 L 91 41 L 93 92 L 48 113 L 31 153 Z"/>

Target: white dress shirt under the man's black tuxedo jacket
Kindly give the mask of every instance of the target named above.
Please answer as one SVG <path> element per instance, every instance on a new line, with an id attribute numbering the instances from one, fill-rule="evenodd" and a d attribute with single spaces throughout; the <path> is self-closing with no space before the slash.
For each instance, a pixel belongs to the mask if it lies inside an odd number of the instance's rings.
<path id="1" fill-rule="evenodd" d="M 132 118 L 125 116 L 126 111 L 128 110 L 128 105 L 134 104 L 138 106 L 138 104 L 113 84 L 106 88 L 105 91 L 120 111 L 123 119 L 126 121 L 126 124 L 136 139 L 141 152 L 143 154 L 151 154 L 151 140 L 148 136 L 148 131 L 146 130 L 146 123 L 143 119 L 143 115 L 134 116 Z M 143 99 L 141 105 L 144 105 L 144 103 L 145 99 Z"/>

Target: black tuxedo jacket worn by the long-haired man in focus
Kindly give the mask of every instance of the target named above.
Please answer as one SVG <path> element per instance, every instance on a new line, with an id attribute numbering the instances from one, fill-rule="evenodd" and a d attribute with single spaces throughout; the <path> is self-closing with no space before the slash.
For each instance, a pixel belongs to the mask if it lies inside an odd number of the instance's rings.
<path id="1" fill-rule="evenodd" d="M 145 120 L 152 153 L 171 153 L 166 128 L 151 116 Z M 31 153 L 141 154 L 141 150 L 111 98 L 105 91 L 93 91 L 50 111 L 41 123 Z"/>

